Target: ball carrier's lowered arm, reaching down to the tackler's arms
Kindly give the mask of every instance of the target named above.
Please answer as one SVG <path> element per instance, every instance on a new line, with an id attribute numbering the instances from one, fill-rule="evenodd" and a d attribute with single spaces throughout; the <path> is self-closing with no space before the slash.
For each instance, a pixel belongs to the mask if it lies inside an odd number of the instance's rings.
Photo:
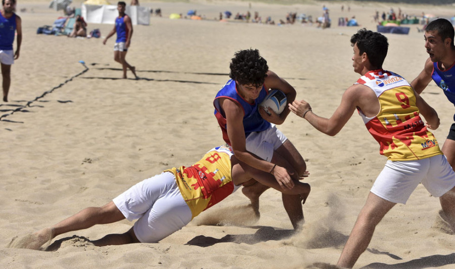
<path id="1" fill-rule="evenodd" d="M 274 174 L 280 186 L 294 187 L 286 168 L 275 166 L 275 164 L 256 158 L 246 150 L 245 129 L 243 126 L 243 110 L 236 103 L 229 99 L 223 99 L 221 107 L 226 117 L 226 125 L 228 127 L 228 137 L 231 141 L 231 146 L 234 155 L 240 161 L 264 172 Z M 275 168 L 274 168 L 275 166 Z M 272 169 L 273 168 L 273 169 Z"/>

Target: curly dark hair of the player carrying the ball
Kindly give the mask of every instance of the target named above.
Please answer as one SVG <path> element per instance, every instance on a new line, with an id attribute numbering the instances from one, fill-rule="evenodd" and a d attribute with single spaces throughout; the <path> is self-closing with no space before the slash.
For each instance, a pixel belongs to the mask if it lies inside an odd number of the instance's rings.
<path id="1" fill-rule="evenodd" d="M 232 58 L 229 76 L 239 84 L 261 86 L 267 76 L 267 61 L 259 55 L 258 50 L 243 50 L 235 53 Z"/>

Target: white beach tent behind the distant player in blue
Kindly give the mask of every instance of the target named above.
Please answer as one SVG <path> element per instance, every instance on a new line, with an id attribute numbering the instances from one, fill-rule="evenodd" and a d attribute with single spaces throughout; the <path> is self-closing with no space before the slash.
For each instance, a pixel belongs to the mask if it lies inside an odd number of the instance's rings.
<path id="1" fill-rule="evenodd" d="M 126 6 L 125 13 L 133 25 L 150 25 L 150 8 Z M 81 14 L 87 23 L 114 24 L 118 17 L 117 5 L 110 5 L 106 0 L 87 0 L 82 4 Z"/>

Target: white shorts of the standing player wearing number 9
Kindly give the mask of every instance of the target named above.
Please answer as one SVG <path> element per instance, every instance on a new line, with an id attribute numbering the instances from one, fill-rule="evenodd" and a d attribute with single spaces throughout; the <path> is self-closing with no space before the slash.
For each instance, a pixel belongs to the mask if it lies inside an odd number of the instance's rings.
<path id="1" fill-rule="evenodd" d="M 388 160 L 371 192 L 392 203 L 405 204 L 419 183 L 440 197 L 455 187 L 455 172 L 444 155 L 416 161 Z"/>

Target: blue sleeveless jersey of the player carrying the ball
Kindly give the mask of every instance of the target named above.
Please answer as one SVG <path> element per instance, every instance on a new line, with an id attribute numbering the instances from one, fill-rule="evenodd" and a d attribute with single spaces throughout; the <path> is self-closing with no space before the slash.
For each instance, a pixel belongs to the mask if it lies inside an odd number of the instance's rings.
<path id="1" fill-rule="evenodd" d="M 264 120 L 259 114 L 259 104 L 265 99 L 267 90 L 264 86 L 259 93 L 259 97 L 254 100 L 253 104 L 248 103 L 238 93 L 236 88 L 236 81 L 230 79 L 216 94 L 213 105 L 215 106 L 215 117 L 223 132 L 223 140 L 231 146 L 231 141 L 228 137 L 228 130 L 226 128 L 226 117 L 219 104 L 220 98 L 228 98 L 239 104 L 244 112 L 243 128 L 245 129 L 245 137 L 254 131 L 263 131 L 270 128 L 270 122 Z"/>

